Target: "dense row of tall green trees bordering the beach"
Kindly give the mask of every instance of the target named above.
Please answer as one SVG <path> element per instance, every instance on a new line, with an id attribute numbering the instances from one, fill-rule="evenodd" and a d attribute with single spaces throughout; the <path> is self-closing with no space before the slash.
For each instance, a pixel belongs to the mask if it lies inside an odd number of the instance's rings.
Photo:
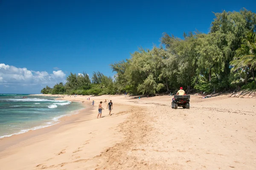
<path id="1" fill-rule="evenodd" d="M 94 72 L 70 74 L 67 83 L 47 86 L 41 93 L 52 94 L 149 94 L 217 92 L 256 88 L 256 14 L 215 13 L 208 34 L 183 34 L 183 39 L 166 33 L 161 45 L 139 48 L 131 57 L 111 64 L 115 78 Z"/>

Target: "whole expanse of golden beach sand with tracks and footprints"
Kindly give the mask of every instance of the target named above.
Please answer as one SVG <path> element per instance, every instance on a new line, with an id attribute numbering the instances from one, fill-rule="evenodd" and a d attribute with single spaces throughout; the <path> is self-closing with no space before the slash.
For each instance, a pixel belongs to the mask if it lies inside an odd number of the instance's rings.
<path id="1" fill-rule="evenodd" d="M 255 170 L 256 99 L 229 96 L 193 95 L 190 109 L 177 110 L 171 96 L 66 96 L 87 109 L 1 139 L 0 170 Z M 105 99 L 114 114 L 106 102 L 96 119 Z"/>

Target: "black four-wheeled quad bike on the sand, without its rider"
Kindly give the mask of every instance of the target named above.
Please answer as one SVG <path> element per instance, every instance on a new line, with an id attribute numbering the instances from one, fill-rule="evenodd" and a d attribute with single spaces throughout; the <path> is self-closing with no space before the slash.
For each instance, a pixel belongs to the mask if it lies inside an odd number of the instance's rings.
<path id="1" fill-rule="evenodd" d="M 174 95 L 172 100 L 172 108 L 177 109 L 183 107 L 183 109 L 189 109 L 190 95 Z"/>

